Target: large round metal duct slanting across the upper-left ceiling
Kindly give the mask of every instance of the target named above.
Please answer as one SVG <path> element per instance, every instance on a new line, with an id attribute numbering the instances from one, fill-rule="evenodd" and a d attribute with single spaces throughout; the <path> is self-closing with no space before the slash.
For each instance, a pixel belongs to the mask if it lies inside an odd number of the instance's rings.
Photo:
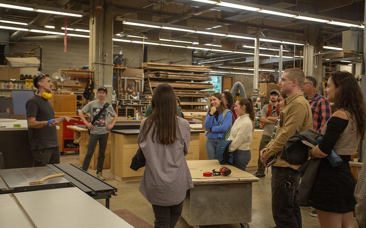
<path id="1" fill-rule="evenodd" d="M 55 8 L 64 8 L 65 4 L 68 3 L 70 0 L 56 0 L 54 1 L 49 7 Z M 45 23 L 49 18 L 51 18 L 52 14 L 50 13 L 39 13 L 36 18 L 34 18 L 31 22 L 28 23 L 26 27 L 38 27 L 41 24 Z M 23 36 L 27 35 L 28 31 L 16 31 L 9 37 L 11 42 L 18 42 Z"/>

